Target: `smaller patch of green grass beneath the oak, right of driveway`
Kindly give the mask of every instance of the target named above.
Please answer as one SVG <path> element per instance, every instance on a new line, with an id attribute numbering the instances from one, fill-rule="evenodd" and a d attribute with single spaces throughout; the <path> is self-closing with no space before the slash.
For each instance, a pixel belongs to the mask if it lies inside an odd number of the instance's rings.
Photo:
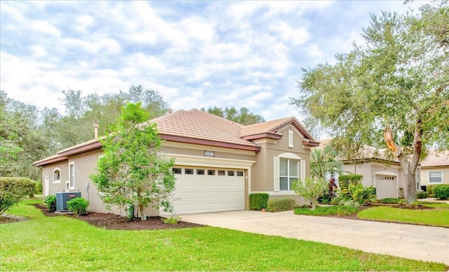
<path id="1" fill-rule="evenodd" d="M 394 207 L 372 207 L 358 212 L 360 219 L 449 227 L 449 205 L 443 203 L 424 204 L 434 209 L 399 209 Z"/>

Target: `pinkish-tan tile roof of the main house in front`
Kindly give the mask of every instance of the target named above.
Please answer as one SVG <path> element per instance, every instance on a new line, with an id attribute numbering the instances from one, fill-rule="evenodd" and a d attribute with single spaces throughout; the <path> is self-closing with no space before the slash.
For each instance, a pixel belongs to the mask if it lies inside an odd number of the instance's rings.
<path id="1" fill-rule="evenodd" d="M 282 134 L 276 130 L 291 123 L 303 134 L 303 141 L 306 141 L 306 144 L 319 144 L 295 117 L 286 117 L 244 126 L 243 124 L 232 122 L 208 112 L 203 112 L 202 110 L 192 109 L 177 110 L 168 115 L 151 119 L 141 125 L 143 126 L 147 123 L 157 124 L 159 134 L 161 134 L 162 138 L 165 137 L 167 141 L 184 141 L 180 139 L 188 138 L 198 140 L 196 143 L 244 150 L 260 150 L 257 144 L 244 137 L 259 134 L 272 134 L 281 137 Z M 94 139 L 60 150 L 57 155 L 39 160 L 38 162 L 34 162 L 34 164 L 44 165 L 46 162 L 57 160 L 58 157 L 63 158 L 68 155 L 75 155 L 98 148 L 101 148 L 101 143 L 98 139 Z"/>

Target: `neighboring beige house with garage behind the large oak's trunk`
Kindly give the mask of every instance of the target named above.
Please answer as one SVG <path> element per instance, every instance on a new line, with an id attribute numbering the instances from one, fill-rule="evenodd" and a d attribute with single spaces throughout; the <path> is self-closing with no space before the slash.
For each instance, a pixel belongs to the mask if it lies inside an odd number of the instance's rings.
<path id="1" fill-rule="evenodd" d="M 323 145 L 330 139 L 321 141 Z M 406 177 L 398 160 L 394 159 L 387 149 L 377 149 L 369 145 L 363 148 L 351 160 L 338 157 L 343 162 L 343 174 L 363 175 L 363 186 L 374 186 L 377 199 L 387 197 L 407 197 Z M 420 166 L 417 167 L 416 188 L 420 187 Z"/>

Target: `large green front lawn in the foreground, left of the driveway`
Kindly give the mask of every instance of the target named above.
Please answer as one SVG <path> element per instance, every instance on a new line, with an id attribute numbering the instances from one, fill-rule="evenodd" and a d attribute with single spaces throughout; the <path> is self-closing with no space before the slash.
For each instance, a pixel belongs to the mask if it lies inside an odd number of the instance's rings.
<path id="1" fill-rule="evenodd" d="M 41 200 L 27 200 L 36 203 Z M 109 231 L 21 204 L 0 225 L 1 271 L 446 271 L 448 266 L 224 228 Z"/>

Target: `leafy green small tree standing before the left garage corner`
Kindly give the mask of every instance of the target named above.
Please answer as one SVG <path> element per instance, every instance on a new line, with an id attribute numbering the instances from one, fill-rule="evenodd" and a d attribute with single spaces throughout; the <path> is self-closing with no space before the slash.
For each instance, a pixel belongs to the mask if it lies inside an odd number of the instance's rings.
<path id="1" fill-rule="evenodd" d="M 104 156 L 98 173 L 91 175 L 105 204 L 135 205 L 142 220 L 149 205 L 173 211 L 170 193 L 175 188 L 175 161 L 159 156 L 162 139 L 156 124 L 140 124 L 148 117 L 140 103 L 126 105 L 115 132 L 101 140 Z"/>

